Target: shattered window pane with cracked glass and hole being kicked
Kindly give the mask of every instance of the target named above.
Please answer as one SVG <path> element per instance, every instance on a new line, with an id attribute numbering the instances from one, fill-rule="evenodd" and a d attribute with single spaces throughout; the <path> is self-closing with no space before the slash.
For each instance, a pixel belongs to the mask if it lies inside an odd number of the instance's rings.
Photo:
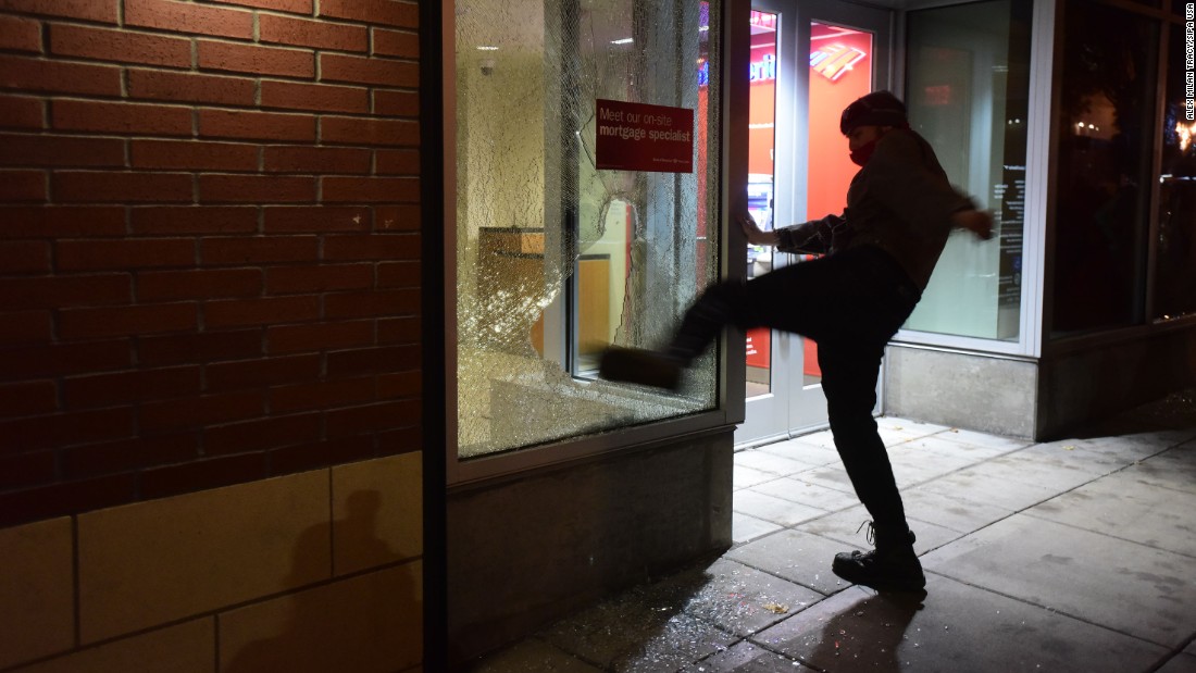
<path id="1" fill-rule="evenodd" d="M 720 12 L 456 4 L 460 458 L 715 408 L 714 353 L 679 393 L 596 367 L 611 343 L 663 345 L 718 273 Z M 691 111 L 691 170 L 599 170 L 599 100 Z"/>

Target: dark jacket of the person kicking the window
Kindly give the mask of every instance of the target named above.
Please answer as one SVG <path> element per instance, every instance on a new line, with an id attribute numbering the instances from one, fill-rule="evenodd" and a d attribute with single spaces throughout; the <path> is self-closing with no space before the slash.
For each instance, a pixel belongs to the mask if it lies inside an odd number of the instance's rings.
<path id="1" fill-rule="evenodd" d="M 951 186 L 930 143 L 913 130 L 893 129 L 852 178 L 843 214 L 777 230 L 777 250 L 834 255 L 874 245 L 926 289 L 947 244 L 951 215 L 975 207 Z"/>

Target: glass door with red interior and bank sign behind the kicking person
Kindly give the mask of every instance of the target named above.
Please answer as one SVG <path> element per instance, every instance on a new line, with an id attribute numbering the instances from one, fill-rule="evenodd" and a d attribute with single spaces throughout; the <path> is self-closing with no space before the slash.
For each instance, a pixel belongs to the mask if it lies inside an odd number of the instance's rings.
<path id="1" fill-rule="evenodd" d="M 749 208 L 765 230 L 842 213 L 856 172 L 838 133 L 843 108 L 889 86 L 891 12 L 837 1 L 752 4 Z M 810 256 L 749 246 L 748 277 Z M 748 332 L 746 418 L 736 443 L 826 424 L 818 347 Z"/>

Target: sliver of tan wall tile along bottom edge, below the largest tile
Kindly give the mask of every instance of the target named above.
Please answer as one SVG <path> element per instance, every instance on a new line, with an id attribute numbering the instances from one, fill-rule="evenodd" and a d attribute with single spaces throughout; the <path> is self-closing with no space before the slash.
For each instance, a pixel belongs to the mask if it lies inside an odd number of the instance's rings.
<path id="1" fill-rule="evenodd" d="M 215 618 L 208 617 L 79 650 L 12 673 L 212 673 L 215 659 Z"/>

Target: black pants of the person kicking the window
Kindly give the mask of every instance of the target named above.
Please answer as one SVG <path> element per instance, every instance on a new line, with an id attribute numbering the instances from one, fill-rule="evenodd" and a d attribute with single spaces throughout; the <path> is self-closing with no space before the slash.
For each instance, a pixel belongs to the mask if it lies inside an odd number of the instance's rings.
<path id="1" fill-rule="evenodd" d="M 897 261 L 861 246 L 746 283 L 712 286 L 685 314 L 669 353 L 688 362 L 726 324 L 814 339 L 835 447 L 872 516 L 877 544 L 908 544 L 905 512 L 872 409 L 885 344 L 920 298 Z"/>

